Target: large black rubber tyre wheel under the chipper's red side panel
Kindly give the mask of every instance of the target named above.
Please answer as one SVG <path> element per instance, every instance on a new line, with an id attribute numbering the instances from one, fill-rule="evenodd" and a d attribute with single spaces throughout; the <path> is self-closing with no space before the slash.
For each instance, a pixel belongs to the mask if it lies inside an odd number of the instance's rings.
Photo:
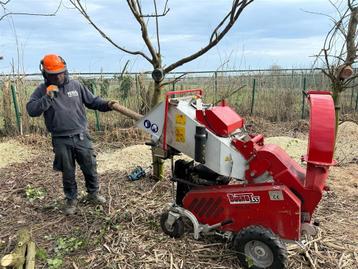
<path id="1" fill-rule="evenodd" d="M 234 238 L 234 248 L 244 268 L 286 268 L 285 244 L 271 230 L 262 226 L 242 229 Z"/>

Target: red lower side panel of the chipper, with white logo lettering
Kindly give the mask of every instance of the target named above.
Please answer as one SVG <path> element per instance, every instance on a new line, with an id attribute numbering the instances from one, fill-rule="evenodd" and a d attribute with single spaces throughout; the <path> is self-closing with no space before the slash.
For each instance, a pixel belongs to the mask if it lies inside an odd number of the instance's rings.
<path id="1" fill-rule="evenodd" d="M 200 223 L 232 221 L 222 227 L 225 231 L 237 232 L 255 224 L 270 228 L 282 238 L 298 240 L 300 237 L 301 201 L 283 185 L 194 189 L 184 198 L 184 208 Z"/>

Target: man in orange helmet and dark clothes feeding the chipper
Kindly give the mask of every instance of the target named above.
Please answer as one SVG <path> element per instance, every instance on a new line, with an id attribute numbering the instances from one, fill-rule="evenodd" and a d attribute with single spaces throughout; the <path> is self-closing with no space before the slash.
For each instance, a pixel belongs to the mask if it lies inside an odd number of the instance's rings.
<path id="1" fill-rule="evenodd" d="M 106 202 L 98 193 L 96 155 L 87 131 L 85 106 L 106 112 L 112 110 L 116 101 L 95 97 L 81 83 L 69 79 L 66 62 L 58 55 L 44 56 L 40 69 L 44 83 L 31 95 L 26 109 L 31 117 L 44 116 L 52 136 L 53 167 L 62 172 L 64 212 L 73 215 L 77 206 L 76 161 L 85 177 L 87 200 L 97 204 Z"/>

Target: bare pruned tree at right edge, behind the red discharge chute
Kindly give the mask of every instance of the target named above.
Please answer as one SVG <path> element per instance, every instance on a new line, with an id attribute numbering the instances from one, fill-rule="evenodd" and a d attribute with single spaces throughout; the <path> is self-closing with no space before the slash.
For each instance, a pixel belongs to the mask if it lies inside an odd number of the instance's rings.
<path id="1" fill-rule="evenodd" d="M 358 76 L 353 74 L 353 65 L 357 62 L 358 3 L 356 0 L 342 0 L 331 4 L 338 13 L 338 19 L 329 16 L 333 27 L 327 33 L 316 63 L 323 64 L 320 69 L 331 81 L 337 133 L 340 95 L 346 89 L 356 86 L 355 78 Z"/>

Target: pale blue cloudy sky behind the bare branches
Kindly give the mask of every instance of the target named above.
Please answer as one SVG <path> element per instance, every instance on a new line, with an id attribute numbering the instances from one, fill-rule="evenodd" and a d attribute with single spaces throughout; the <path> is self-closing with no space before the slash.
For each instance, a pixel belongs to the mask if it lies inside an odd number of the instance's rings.
<path id="1" fill-rule="evenodd" d="M 150 65 L 139 56 L 130 56 L 109 44 L 77 10 L 64 5 L 55 17 L 8 16 L 0 21 L 0 73 L 17 62 L 17 48 L 24 71 L 38 72 L 43 55 L 60 54 L 70 71 L 118 72 L 127 60 L 129 71 L 148 71 Z M 118 44 L 147 53 L 138 23 L 124 0 L 87 0 L 91 18 Z M 144 13 L 153 13 L 152 0 Z M 163 8 L 165 0 L 157 0 Z M 160 18 L 163 63 L 169 65 L 207 44 L 210 33 L 230 8 L 232 0 L 169 0 L 169 13 Z M 13 12 L 50 13 L 57 1 L 12 0 Z M 319 52 L 328 30 L 326 16 L 334 15 L 328 0 L 255 0 L 235 26 L 210 52 L 178 70 L 265 69 L 311 67 L 312 55 Z M 1 13 L 0 13 L 1 16 Z M 150 36 L 155 38 L 153 24 Z M 16 45 L 16 37 L 17 43 Z"/>

